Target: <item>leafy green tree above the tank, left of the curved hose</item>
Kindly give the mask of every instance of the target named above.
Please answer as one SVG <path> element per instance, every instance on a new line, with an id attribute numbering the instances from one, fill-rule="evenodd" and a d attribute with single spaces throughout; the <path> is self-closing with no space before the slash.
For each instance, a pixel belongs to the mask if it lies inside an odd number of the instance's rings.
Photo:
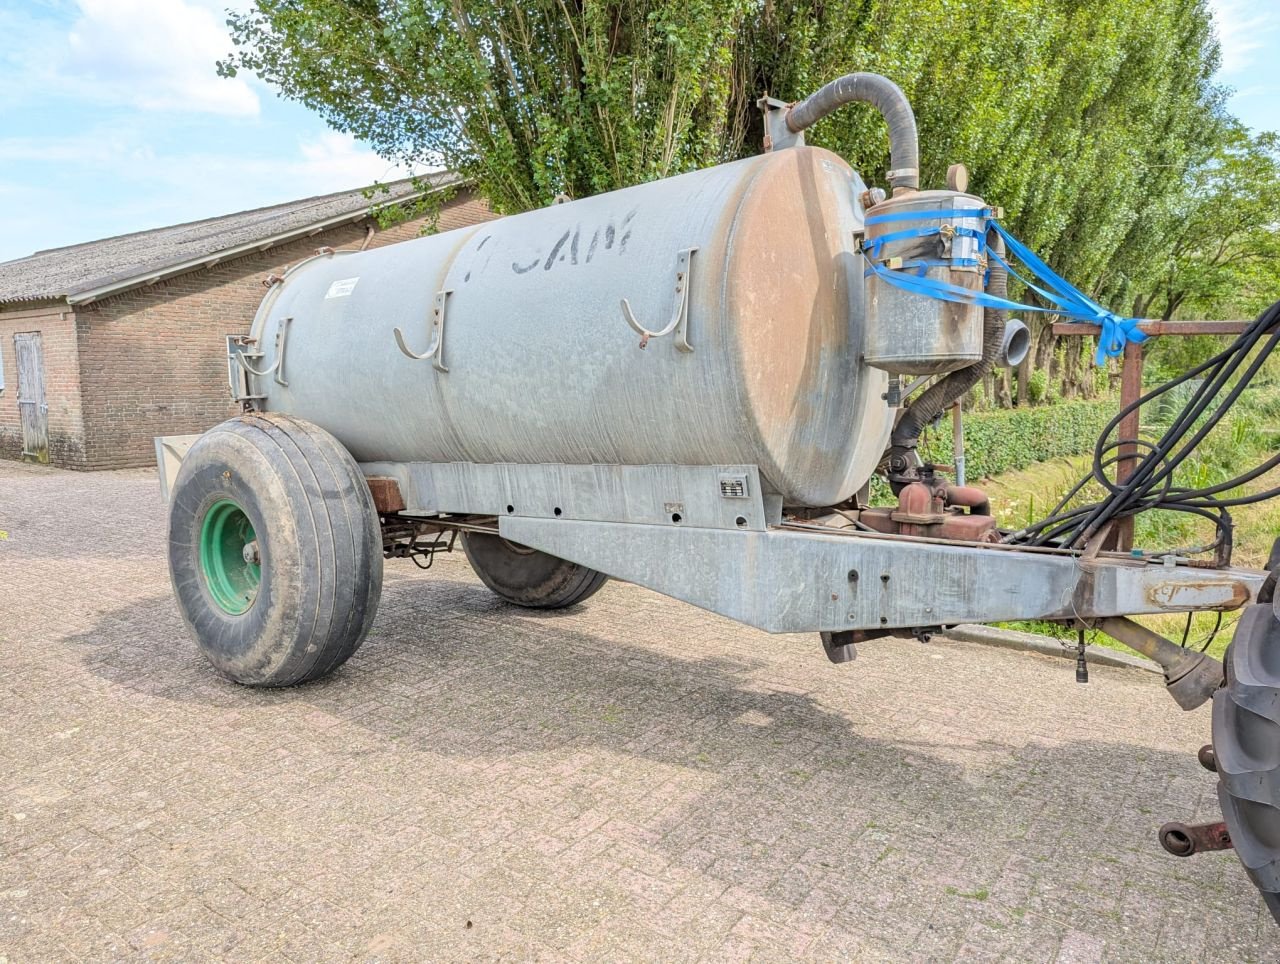
<path id="1" fill-rule="evenodd" d="M 256 73 L 385 157 L 539 207 L 741 152 L 746 0 L 256 0 Z"/>

